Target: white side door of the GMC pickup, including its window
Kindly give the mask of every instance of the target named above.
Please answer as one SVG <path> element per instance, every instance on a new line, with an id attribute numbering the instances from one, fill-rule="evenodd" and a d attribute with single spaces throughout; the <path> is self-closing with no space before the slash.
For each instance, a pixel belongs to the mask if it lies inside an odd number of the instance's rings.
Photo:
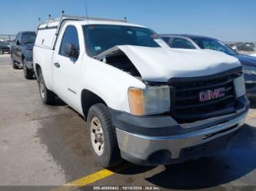
<path id="1" fill-rule="evenodd" d="M 63 28 L 53 57 L 52 74 L 55 93 L 71 107 L 78 107 L 80 55 L 78 30 L 74 25 Z"/>

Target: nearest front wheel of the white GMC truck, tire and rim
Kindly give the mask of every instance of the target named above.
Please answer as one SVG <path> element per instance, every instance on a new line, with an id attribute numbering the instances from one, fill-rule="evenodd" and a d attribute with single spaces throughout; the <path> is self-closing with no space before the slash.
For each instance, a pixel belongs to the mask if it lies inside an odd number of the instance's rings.
<path id="1" fill-rule="evenodd" d="M 101 126 L 101 130 L 97 130 L 97 120 Z M 121 163 L 122 160 L 115 127 L 111 124 L 108 108 L 104 104 L 91 106 L 87 117 L 87 127 L 91 153 L 95 157 L 95 160 L 103 167 L 111 167 Z M 97 136 L 96 132 L 98 132 Z"/>

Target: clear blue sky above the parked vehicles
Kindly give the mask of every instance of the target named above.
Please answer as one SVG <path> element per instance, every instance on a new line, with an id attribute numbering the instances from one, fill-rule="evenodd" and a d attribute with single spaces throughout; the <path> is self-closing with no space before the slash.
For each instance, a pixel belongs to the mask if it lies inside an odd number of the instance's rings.
<path id="1" fill-rule="evenodd" d="M 88 15 L 128 18 L 158 34 L 256 42 L 256 0 L 86 0 Z M 86 15 L 85 0 L 0 0 L 0 35 L 35 31 L 38 18 Z"/>

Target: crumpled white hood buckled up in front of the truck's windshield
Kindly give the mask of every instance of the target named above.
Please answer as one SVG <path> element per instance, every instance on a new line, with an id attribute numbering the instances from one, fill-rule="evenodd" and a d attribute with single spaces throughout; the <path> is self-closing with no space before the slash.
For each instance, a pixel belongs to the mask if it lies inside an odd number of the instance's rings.
<path id="1" fill-rule="evenodd" d="M 145 81 L 166 82 L 171 77 L 208 76 L 241 66 L 237 58 L 211 50 L 119 45 L 101 53 L 101 56 L 118 49 L 128 56 Z"/>

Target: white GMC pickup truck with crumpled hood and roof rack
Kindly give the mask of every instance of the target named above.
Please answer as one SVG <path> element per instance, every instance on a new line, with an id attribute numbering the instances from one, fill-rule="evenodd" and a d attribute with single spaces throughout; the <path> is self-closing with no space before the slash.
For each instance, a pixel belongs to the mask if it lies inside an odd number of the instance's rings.
<path id="1" fill-rule="evenodd" d="M 43 103 L 58 96 L 85 117 L 102 166 L 208 156 L 248 113 L 236 58 L 168 48 L 126 21 L 62 15 L 38 25 L 33 56 Z"/>

